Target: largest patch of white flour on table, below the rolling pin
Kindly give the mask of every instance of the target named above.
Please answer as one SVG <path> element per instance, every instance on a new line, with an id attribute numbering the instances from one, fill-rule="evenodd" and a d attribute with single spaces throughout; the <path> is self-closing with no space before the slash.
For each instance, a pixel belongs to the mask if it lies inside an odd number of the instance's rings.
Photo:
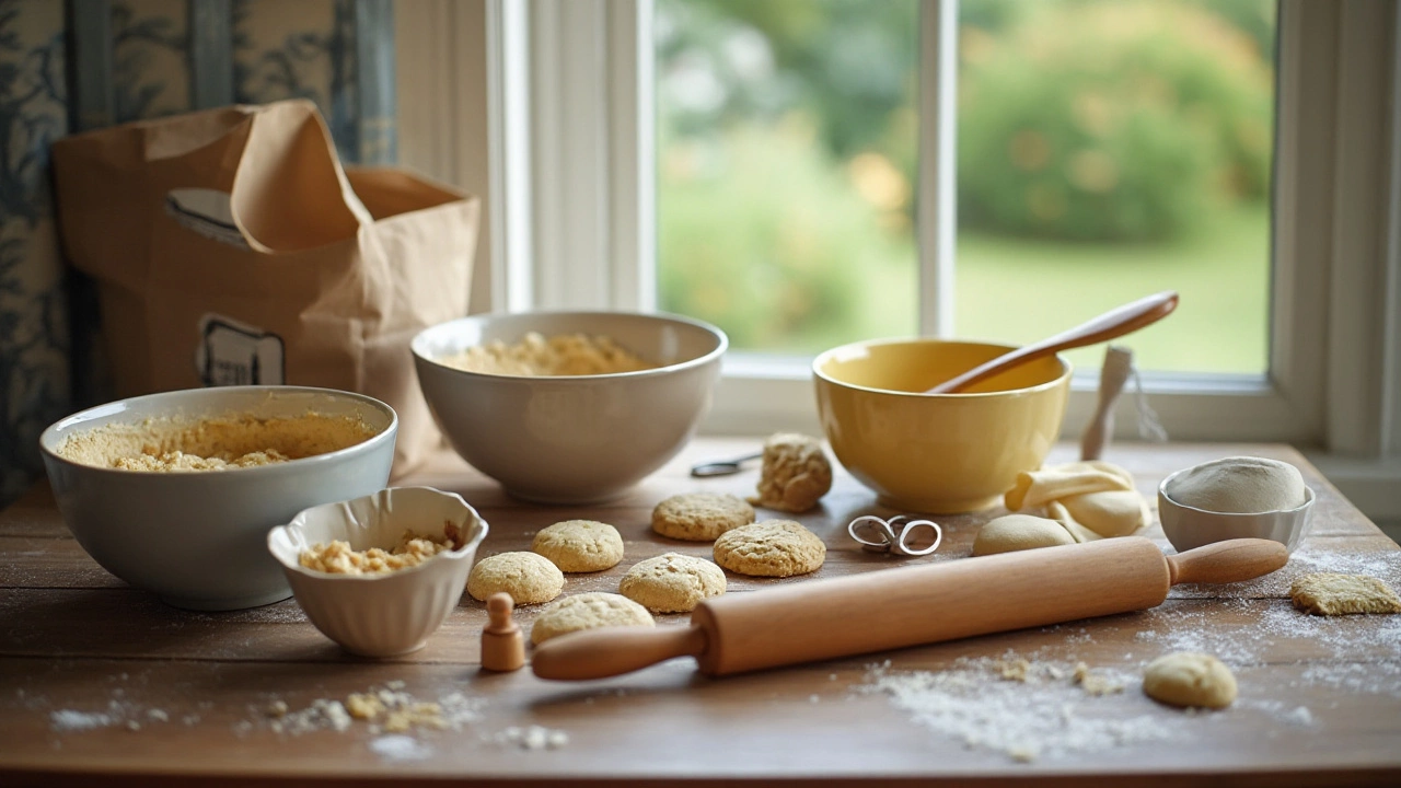
<path id="1" fill-rule="evenodd" d="M 1091 680 L 1086 681 L 1089 676 Z M 1136 676 L 1082 665 L 1003 659 L 954 660 L 941 672 L 892 672 L 890 662 L 867 669 L 856 691 L 888 695 L 915 722 L 969 749 L 1000 752 L 1017 761 L 1059 759 L 1125 745 L 1168 739 L 1185 731 L 1181 714 L 1124 715 L 1104 694 Z"/>

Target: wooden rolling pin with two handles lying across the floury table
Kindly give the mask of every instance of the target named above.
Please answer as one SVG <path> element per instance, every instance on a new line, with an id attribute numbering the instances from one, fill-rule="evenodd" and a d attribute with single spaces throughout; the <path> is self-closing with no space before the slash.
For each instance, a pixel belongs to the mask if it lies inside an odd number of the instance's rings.
<path id="1" fill-rule="evenodd" d="M 691 627 L 607 627 L 535 649 L 541 679 L 602 679 L 674 656 L 724 676 L 1156 607 L 1175 583 L 1230 583 L 1289 561 L 1264 538 L 1163 555 L 1107 538 L 863 572 L 702 602 Z"/>

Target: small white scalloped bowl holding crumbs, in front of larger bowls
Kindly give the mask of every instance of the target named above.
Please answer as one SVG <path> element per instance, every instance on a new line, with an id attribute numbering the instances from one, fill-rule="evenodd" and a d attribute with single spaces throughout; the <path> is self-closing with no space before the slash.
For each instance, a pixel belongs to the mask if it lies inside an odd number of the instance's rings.
<path id="1" fill-rule="evenodd" d="M 403 531 L 443 536 L 444 522 L 465 544 L 394 572 L 340 575 L 298 561 L 312 544 L 342 540 L 352 550 L 391 550 Z M 423 648 L 447 621 L 467 587 L 488 524 L 461 495 L 430 487 L 395 487 L 312 506 L 268 533 L 268 551 L 287 575 L 297 604 L 324 635 L 361 656 L 395 656 Z"/>

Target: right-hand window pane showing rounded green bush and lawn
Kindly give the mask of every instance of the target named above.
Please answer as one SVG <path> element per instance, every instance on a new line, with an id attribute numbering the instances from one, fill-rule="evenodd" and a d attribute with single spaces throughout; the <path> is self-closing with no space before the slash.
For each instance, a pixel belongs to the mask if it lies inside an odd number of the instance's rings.
<path id="1" fill-rule="evenodd" d="M 1142 369 L 1265 372 L 1275 14 L 962 0 L 960 337 L 1028 342 L 1171 289 L 1177 313 L 1121 341 Z"/>

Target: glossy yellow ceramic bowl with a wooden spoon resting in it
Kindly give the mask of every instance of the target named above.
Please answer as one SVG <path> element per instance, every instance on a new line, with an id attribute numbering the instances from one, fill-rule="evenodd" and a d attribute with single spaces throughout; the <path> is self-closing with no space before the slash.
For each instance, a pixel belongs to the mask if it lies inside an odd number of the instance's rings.
<path id="1" fill-rule="evenodd" d="M 883 506 L 950 515 L 999 503 L 1061 433 L 1069 362 L 1031 362 L 962 394 L 920 393 L 1012 349 L 878 339 L 827 351 L 813 376 L 832 451 Z"/>

